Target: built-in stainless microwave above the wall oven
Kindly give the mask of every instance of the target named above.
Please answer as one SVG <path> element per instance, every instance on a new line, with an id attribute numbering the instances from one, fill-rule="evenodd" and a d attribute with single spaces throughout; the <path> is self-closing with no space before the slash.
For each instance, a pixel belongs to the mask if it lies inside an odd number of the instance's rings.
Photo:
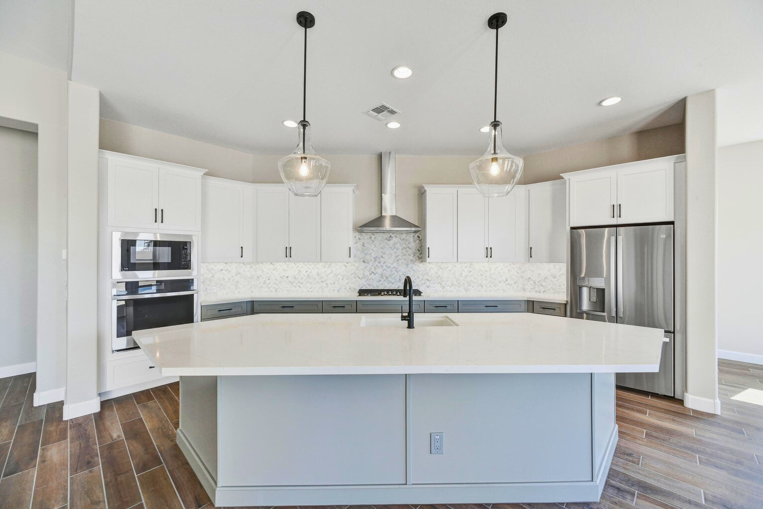
<path id="1" fill-rule="evenodd" d="M 197 276 L 196 235 L 113 232 L 111 278 Z"/>

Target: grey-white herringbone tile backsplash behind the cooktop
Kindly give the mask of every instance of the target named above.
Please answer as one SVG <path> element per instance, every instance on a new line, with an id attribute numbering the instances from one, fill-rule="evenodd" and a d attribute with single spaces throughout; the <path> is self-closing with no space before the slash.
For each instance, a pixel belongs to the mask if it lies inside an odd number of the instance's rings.
<path id="1" fill-rule="evenodd" d="M 356 233 L 353 263 L 201 264 L 201 291 L 220 295 L 355 292 L 399 288 L 410 276 L 423 291 L 563 293 L 565 264 L 423 263 L 421 235 Z"/>

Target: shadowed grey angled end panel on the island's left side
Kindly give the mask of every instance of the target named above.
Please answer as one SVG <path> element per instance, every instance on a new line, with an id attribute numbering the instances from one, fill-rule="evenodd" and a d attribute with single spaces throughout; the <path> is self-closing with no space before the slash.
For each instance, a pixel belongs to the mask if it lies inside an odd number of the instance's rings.
<path id="1" fill-rule="evenodd" d="M 217 482 L 217 376 L 180 377 L 179 434 Z"/>

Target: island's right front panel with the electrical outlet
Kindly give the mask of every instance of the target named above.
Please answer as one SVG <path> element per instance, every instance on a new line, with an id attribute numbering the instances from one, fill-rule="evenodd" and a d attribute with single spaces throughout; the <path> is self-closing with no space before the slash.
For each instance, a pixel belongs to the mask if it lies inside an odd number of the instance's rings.
<path id="1" fill-rule="evenodd" d="M 592 480 L 591 373 L 409 375 L 409 390 L 414 484 Z"/>

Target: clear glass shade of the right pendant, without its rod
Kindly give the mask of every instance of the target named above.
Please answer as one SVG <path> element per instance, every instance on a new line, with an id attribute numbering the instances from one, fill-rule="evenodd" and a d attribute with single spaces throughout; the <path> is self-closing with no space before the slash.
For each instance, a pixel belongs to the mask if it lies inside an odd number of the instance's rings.
<path id="1" fill-rule="evenodd" d="M 491 122 L 488 135 L 488 152 L 469 165 L 469 176 L 482 196 L 506 196 L 520 180 L 524 159 L 504 149 L 501 122 Z"/>

